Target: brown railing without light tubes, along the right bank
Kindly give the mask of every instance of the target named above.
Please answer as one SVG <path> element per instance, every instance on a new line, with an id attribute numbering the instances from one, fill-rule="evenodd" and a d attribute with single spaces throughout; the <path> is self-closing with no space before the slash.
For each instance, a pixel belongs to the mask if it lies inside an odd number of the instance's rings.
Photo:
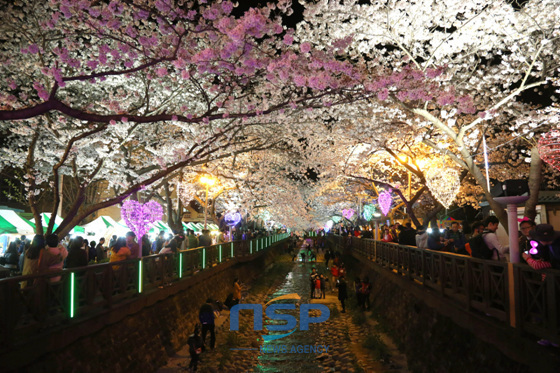
<path id="1" fill-rule="evenodd" d="M 560 343 L 560 271 L 483 260 L 358 237 L 329 235 L 345 249 L 428 287 L 456 306 Z"/>

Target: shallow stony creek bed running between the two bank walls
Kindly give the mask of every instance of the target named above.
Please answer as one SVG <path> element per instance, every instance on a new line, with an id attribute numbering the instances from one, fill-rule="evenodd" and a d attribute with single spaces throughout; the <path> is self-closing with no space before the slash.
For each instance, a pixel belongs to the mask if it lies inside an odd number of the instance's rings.
<path id="1" fill-rule="evenodd" d="M 311 269 L 316 267 L 319 273 L 327 271 L 321 259 L 322 255 L 319 256 L 318 263 L 293 263 L 291 271 L 285 277 L 279 276 L 268 291 L 262 291 L 260 294 L 249 292 L 243 299 L 243 303 L 264 305 L 270 299 L 297 293 L 301 299 L 296 302 L 296 310 L 283 313 L 292 314 L 299 319 L 299 304 L 322 303 L 331 310 L 329 320 L 310 324 L 309 330 L 306 331 L 298 328 L 287 337 L 263 344 L 262 334 L 267 334 L 266 325 L 271 324 L 272 320 L 265 316 L 263 320 L 265 329 L 253 331 L 252 311 L 242 311 L 239 317 L 239 331 L 229 331 L 229 312 L 222 312 L 216 326 L 217 347 L 214 351 L 208 350 L 203 353 L 198 371 L 202 373 L 407 372 L 406 359 L 400 355 L 387 337 L 382 337 L 382 340 L 388 346 L 391 363 L 385 361 L 385 364 L 382 364 L 363 347 L 366 337 L 373 329 L 374 320 L 366 316 L 367 321 L 363 325 L 356 325 L 352 318 L 355 317 L 355 312 L 360 311 L 341 313 L 336 292 L 327 290 L 325 299 L 310 299 L 309 274 Z M 348 291 L 350 295 L 351 289 L 349 288 Z M 286 303 L 294 303 L 294 301 L 289 300 Z M 318 311 L 311 311 L 311 316 L 314 316 L 313 312 Z M 264 348 L 263 346 L 267 351 L 272 352 L 263 352 L 261 349 Z M 299 347 L 301 349 L 304 346 L 328 346 L 328 350 L 326 353 L 305 350 L 297 353 L 298 346 L 301 346 Z M 292 348 L 293 353 L 291 353 Z M 324 351 L 324 347 L 322 349 Z M 158 372 L 186 372 L 189 361 L 188 346 L 185 346 L 176 356 L 171 357 L 168 364 Z"/>

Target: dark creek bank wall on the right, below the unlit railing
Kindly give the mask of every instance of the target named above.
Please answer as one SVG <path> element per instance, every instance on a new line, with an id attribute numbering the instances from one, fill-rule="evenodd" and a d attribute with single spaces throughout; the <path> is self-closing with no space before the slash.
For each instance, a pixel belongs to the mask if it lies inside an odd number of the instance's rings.
<path id="1" fill-rule="evenodd" d="M 351 249 L 345 258 L 355 275 L 369 276 L 372 310 L 412 372 L 560 372 L 560 350 L 541 347 L 486 315 L 460 310 Z"/>

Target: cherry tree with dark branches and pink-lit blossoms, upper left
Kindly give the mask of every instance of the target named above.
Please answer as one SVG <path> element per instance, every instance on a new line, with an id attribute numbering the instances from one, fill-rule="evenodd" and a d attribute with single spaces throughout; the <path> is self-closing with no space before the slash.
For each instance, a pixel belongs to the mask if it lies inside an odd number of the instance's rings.
<path id="1" fill-rule="evenodd" d="M 357 99 L 345 44 L 293 44 L 287 4 L 235 18 L 229 1 L 0 2 L 2 166 L 24 170 L 37 231 L 36 196 L 56 214 L 60 175 L 79 190 L 64 235 L 179 169 L 276 146 L 289 112 Z M 115 193 L 80 211 L 96 180 Z"/>

